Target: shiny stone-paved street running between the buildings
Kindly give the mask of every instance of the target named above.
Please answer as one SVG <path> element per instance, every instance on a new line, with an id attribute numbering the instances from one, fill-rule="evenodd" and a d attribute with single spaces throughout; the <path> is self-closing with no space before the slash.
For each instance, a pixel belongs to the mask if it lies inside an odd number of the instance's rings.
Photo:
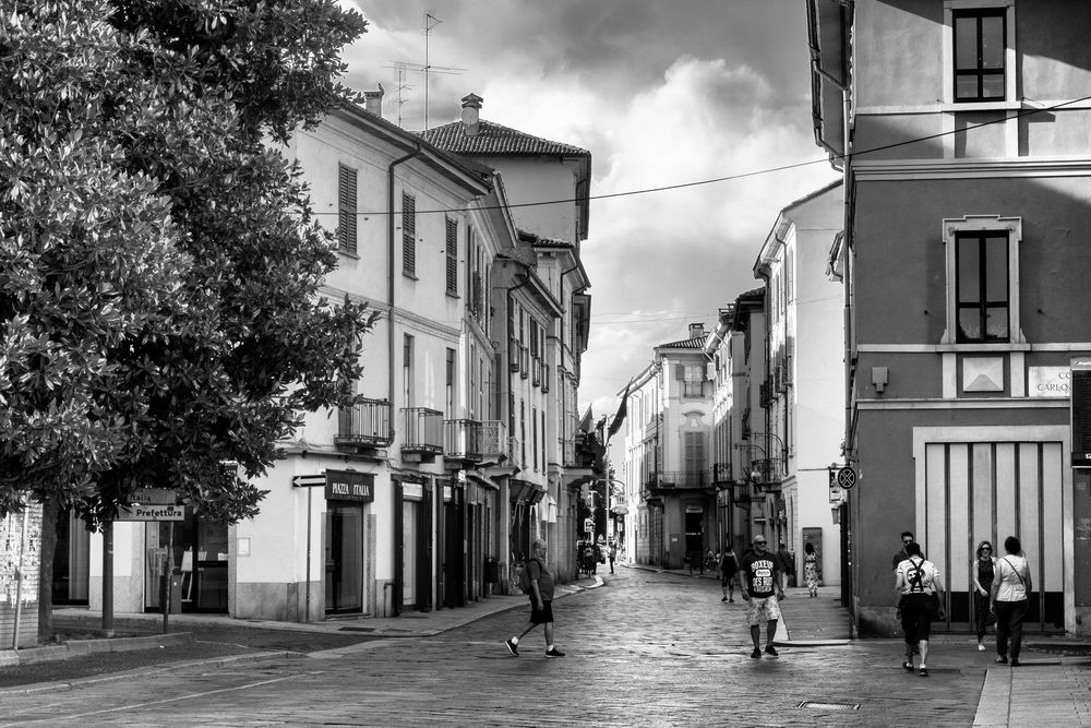
<path id="1" fill-rule="evenodd" d="M 987 663 L 974 667 L 974 653 L 945 664 L 945 651 L 962 646 L 938 645 L 928 679 L 901 670 L 897 641 L 784 646 L 779 658 L 751 659 L 744 604 L 738 595 L 721 602 L 716 581 L 606 571 L 604 586 L 555 605 L 564 658 L 542 655 L 540 631 L 508 655 L 503 641 L 526 619 L 511 610 L 436 637 L 325 657 L 204 664 L 13 694 L 0 725 L 973 723 Z M 798 594 L 790 598 L 807 598 Z"/>

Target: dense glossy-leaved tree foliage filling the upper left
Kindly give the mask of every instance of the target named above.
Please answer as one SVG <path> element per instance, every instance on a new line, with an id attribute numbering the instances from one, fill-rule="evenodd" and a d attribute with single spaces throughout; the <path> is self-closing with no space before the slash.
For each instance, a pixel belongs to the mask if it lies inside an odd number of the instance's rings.
<path id="1" fill-rule="evenodd" d="M 172 487 L 252 517 L 245 476 L 344 404 L 373 317 L 319 297 L 334 241 L 268 142 L 350 100 L 364 29 L 333 0 L 0 17 L 0 513 L 28 493 L 95 527 Z"/>

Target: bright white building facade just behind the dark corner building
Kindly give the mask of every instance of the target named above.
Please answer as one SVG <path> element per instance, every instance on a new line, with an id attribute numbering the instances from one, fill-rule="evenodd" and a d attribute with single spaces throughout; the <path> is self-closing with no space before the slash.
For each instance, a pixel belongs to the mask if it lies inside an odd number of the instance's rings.
<path id="1" fill-rule="evenodd" d="M 842 215 L 840 181 L 796 200 L 778 215 L 754 264 L 767 296 L 769 377 L 760 386 L 766 434 L 751 437 L 781 465 L 777 536 L 795 557 L 793 572 L 802 573 L 811 544 L 827 585 L 841 583 L 842 565 L 834 520 L 841 499 L 831 501 L 829 469 L 841 462 L 844 431 L 843 306 L 840 285 L 826 275 Z"/>

